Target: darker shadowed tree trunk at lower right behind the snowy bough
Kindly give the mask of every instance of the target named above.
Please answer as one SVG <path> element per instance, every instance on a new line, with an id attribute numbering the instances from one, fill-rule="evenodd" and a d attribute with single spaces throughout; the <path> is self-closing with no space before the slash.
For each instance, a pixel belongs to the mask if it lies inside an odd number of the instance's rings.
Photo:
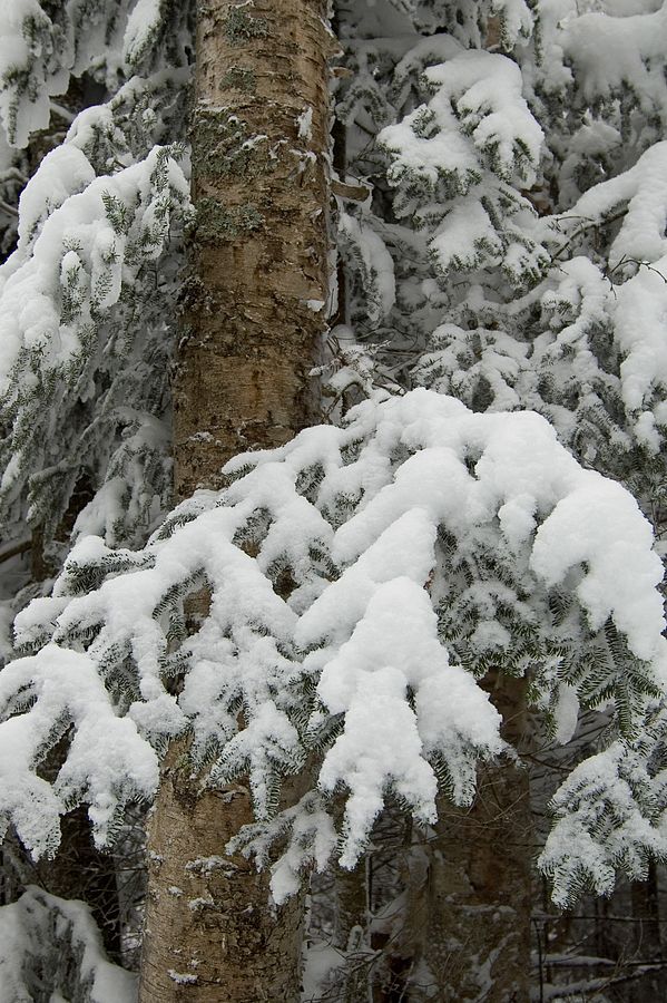
<path id="1" fill-rule="evenodd" d="M 489 680 L 502 734 L 521 747 L 526 680 Z M 528 773 L 513 763 L 478 770 L 469 809 L 443 798 L 439 820 L 406 875 L 398 938 L 409 985 L 389 999 L 411 1003 L 527 1003 L 530 997 L 532 819 Z"/>

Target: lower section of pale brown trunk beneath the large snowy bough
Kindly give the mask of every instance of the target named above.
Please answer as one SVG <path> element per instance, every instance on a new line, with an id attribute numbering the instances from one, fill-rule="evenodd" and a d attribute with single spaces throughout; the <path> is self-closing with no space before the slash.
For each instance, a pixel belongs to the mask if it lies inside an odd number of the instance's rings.
<path id="1" fill-rule="evenodd" d="M 139 1000 L 294 1003 L 303 899 L 275 908 L 266 873 L 225 854 L 253 817 L 247 786 L 202 793 L 187 760 L 174 742 L 150 821 Z"/>

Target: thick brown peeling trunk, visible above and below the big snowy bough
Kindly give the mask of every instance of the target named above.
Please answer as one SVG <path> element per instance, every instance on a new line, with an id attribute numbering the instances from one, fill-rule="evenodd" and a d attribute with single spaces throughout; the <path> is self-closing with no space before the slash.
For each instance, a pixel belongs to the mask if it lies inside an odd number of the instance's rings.
<path id="1" fill-rule="evenodd" d="M 174 380 L 175 489 L 216 487 L 230 456 L 316 415 L 310 370 L 328 299 L 325 0 L 200 4 L 193 225 Z M 175 742 L 148 834 L 139 1001 L 294 1003 L 303 902 L 225 845 L 252 821 L 247 783 L 202 791 Z"/>

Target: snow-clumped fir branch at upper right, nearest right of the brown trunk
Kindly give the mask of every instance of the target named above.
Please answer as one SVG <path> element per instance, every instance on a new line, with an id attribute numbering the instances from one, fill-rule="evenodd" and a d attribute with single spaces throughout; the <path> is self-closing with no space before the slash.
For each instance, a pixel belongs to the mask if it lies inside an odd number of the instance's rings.
<path id="1" fill-rule="evenodd" d="M 392 90 L 404 88 L 408 98 L 421 67 L 422 89 L 433 96 L 416 108 L 409 101 L 408 114 L 377 137 L 396 189 L 393 212 L 428 234 L 424 267 L 443 288 L 452 271 L 499 265 L 514 286 L 533 282 L 548 256 L 526 193 L 545 136 L 523 97 L 519 67 L 443 35 L 403 57 Z"/>

